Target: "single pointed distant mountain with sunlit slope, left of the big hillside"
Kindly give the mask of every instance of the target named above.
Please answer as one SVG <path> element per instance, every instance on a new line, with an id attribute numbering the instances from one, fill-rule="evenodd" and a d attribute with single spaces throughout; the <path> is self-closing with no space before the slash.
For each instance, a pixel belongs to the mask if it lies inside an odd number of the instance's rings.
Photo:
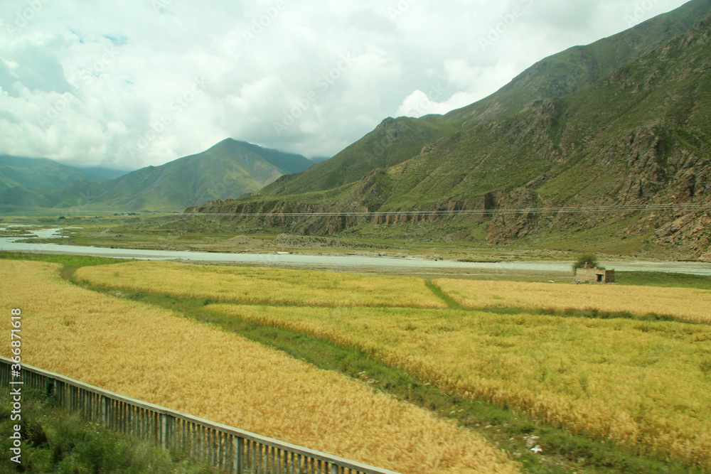
<path id="1" fill-rule="evenodd" d="M 238 198 L 288 173 L 304 171 L 311 161 L 294 153 L 225 139 L 207 151 L 161 166 L 148 166 L 112 181 L 74 183 L 55 193 L 54 207 L 166 211 L 208 200 Z"/>

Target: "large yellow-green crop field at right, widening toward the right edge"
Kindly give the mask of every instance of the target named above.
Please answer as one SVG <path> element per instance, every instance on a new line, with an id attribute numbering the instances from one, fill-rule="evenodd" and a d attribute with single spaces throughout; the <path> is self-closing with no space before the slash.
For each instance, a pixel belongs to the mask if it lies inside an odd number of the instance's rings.
<path id="1" fill-rule="evenodd" d="M 711 469 L 711 328 L 414 308 L 215 304 L 358 348 L 443 389 Z"/>

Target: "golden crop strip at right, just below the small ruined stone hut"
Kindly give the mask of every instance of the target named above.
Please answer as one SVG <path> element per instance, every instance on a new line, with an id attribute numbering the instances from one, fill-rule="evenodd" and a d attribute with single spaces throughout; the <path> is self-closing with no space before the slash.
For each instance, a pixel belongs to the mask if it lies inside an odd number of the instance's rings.
<path id="1" fill-rule="evenodd" d="M 464 308 L 597 309 L 656 313 L 711 323 L 711 291 L 653 286 L 564 285 L 520 281 L 434 281 Z"/>

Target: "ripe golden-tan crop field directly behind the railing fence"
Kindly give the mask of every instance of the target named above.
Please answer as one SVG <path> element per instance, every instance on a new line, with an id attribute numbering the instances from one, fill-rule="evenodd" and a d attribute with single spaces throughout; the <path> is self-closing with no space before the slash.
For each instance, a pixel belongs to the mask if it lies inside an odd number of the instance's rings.
<path id="1" fill-rule="evenodd" d="M 21 308 L 28 365 L 402 473 L 516 472 L 483 438 L 424 409 L 170 311 L 80 289 L 59 268 L 0 260 L 0 312 Z"/>

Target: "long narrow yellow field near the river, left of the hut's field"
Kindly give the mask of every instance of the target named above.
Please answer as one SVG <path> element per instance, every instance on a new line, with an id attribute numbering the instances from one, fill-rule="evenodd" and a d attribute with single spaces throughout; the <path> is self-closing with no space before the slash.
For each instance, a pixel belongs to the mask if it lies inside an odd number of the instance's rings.
<path id="1" fill-rule="evenodd" d="M 301 306 L 415 306 L 446 308 L 422 279 L 326 271 L 129 262 L 85 266 L 78 279 L 92 285 L 215 298 L 242 303 Z"/>

